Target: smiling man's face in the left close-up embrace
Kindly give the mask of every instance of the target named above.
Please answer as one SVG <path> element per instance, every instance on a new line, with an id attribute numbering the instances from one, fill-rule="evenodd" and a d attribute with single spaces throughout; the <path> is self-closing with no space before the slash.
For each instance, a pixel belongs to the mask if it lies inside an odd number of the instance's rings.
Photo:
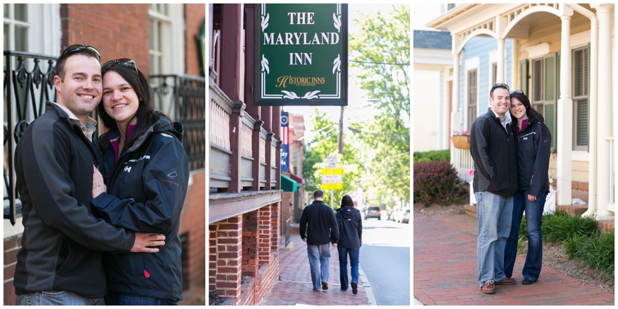
<path id="1" fill-rule="evenodd" d="M 96 58 L 75 55 L 65 62 L 65 80 L 54 76 L 58 104 L 69 108 L 82 123 L 101 100 L 101 64 Z"/>

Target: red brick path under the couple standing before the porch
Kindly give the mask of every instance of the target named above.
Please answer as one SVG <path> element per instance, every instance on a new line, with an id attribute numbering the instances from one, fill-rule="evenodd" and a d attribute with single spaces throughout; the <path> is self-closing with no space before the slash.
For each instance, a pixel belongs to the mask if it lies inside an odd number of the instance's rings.
<path id="1" fill-rule="evenodd" d="M 614 305 L 614 295 L 542 266 L 540 279 L 483 294 L 477 284 L 477 220 L 465 214 L 423 216 L 414 211 L 414 297 L 425 305 Z"/>

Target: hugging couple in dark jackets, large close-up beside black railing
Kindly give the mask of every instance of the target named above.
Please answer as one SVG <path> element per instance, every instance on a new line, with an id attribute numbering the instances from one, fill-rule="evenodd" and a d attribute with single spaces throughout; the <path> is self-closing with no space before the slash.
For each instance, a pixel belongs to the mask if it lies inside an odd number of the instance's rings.
<path id="1" fill-rule="evenodd" d="M 101 65 L 95 47 L 71 45 L 55 70 L 57 102 L 15 150 L 19 304 L 176 305 L 189 181 L 181 124 L 152 107 L 133 60 Z M 108 128 L 98 139 L 95 108 Z"/>

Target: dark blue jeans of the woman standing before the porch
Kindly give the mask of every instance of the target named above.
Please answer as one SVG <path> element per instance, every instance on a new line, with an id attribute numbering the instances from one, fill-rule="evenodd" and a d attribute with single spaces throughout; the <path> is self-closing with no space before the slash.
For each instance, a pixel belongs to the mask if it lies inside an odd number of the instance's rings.
<path id="1" fill-rule="evenodd" d="M 504 249 L 504 274 L 507 277 L 513 275 L 515 258 L 517 256 L 517 241 L 519 238 L 519 227 L 523 211 L 526 211 L 526 231 L 528 233 L 528 252 L 522 274 L 538 280 L 540 268 L 543 260 L 543 238 L 541 234 L 541 218 L 543 207 L 545 206 L 547 192 L 539 192 L 536 201 L 528 201 L 527 191 L 518 191 L 513 196 L 513 221 L 511 233 Z"/>

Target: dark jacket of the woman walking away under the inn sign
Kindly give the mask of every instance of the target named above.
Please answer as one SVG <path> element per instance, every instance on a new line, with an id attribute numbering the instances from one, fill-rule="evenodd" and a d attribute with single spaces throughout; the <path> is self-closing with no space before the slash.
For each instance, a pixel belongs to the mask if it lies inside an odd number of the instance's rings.
<path id="1" fill-rule="evenodd" d="M 341 207 L 336 210 L 341 248 L 359 248 L 363 244 L 363 218 L 361 211 L 354 207 Z"/>

